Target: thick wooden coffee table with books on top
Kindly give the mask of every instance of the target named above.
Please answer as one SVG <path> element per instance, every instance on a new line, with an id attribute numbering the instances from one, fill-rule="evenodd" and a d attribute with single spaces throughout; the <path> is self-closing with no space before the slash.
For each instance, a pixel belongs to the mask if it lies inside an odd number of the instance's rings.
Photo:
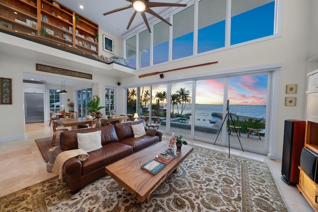
<path id="1" fill-rule="evenodd" d="M 143 203 L 149 202 L 153 192 L 172 171 L 179 170 L 180 163 L 193 151 L 190 145 L 182 145 L 181 154 L 168 163 L 156 175 L 141 166 L 168 148 L 168 141 L 161 141 L 105 167 L 106 173 Z"/>

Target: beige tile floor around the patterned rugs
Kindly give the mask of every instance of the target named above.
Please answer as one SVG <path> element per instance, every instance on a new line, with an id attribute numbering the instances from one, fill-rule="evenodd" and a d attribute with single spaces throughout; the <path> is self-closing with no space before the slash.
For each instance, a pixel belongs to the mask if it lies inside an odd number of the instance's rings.
<path id="1" fill-rule="evenodd" d="M 0 197 L 18 191 L 27 186 L 55 176 L 47 172 L 46 163 L 34 139 L 52 136 L 52 127 L 46 123 L 25 125 L 25 139 L 0 142 Z M 169 138 L 169 135 L 164 135 Z M 191 145 L 200 145 L 211 149 L 228 152 L 228 147 L 213 145 L 200 141 L 189 141 Z M 248 157 L 267 163 L 276 181 L 277 187 L 290 212 L 313 212 L 298 189 L 288 186 L 281 179 L 281 161 L 270 160 L 264 155 L 231 149 L 231 154 Z"/>

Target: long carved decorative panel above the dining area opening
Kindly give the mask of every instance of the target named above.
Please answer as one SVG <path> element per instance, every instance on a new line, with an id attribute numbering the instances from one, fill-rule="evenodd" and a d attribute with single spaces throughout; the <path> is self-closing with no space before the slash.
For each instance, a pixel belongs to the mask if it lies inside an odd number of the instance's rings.
<path id="1" fill-rule="evenodd" d="M 42 64 L 36 64 L 36 71 L 44 71 L 44 72 L 49 72 L 49 73 L 56 73 L 56 74 L 62 74 L 62 75 L 67 75 L 67 76 L 92 79 L 92 74 L 89 74 L 89 73 L 83 73 L 83 72 L 79 72 L 79 71 L 71 71 L 71 70 L 67 70 L 67 69 L 61 69 L 61 68 L 46 66 L 46 65 L 42 65 Z"/>

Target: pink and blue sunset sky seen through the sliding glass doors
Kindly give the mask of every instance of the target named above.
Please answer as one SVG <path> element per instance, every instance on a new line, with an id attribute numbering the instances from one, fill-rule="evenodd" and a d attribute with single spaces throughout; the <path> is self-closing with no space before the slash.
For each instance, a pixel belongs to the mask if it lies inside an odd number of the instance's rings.
<path id="1" fill-rule="evenodd" d="M 224 78 L 198 80 L 196 82 L 196 104 L 223 104 Z M 230 104 L 235 105 L 266 105 L 268 75 L 248 75 L 229 77 Z M 171 92 L 185 88 L 192 94 L 192 81 L 171 84 Z M 144 88 L 144 89 L 149 89 Z M 153 96 L 156 92 L 166 91 L 166 84 L 153 86 Z M 193 99 L 192 99 L 193 100 Z"/>

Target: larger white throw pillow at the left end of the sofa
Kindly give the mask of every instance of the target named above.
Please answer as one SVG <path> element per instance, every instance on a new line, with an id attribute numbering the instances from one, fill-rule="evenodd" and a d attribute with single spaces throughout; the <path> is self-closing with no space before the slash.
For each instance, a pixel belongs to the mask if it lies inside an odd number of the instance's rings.
<path id="1" fill-rule="evenodd" d="M 91 133 L 78 133 L 78 146 L 85 152 L 95 151 L 101 148 L 101 131 Z"/>

